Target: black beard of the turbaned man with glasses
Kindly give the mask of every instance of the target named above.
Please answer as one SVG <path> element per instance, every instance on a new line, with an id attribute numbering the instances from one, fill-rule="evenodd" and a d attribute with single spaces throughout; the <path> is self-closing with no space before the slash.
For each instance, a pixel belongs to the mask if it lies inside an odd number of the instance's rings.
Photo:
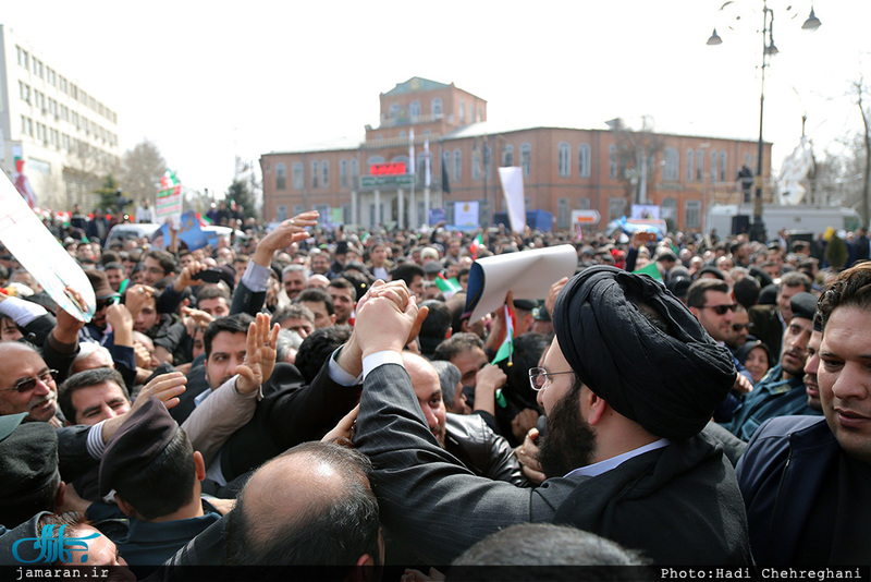
<path id="1" fill-rule="evenodd" d="M 596 433 L 580 416 L 580 390 L 572 388 L 548 414 L 548 432 L 539 441 L 541 472 L 562 477 L 590 464 L 596 451 Z"/>

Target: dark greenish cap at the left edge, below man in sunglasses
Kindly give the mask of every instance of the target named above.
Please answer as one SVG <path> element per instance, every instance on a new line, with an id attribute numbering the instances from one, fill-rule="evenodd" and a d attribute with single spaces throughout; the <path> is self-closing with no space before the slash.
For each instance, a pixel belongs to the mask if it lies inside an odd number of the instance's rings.
<path id="1" fill-rule="evenodd" d="M 0 416 L 0 498 L 45 488 L 58 473 L 58 431 L 22 422 L 26 412 Z"/>

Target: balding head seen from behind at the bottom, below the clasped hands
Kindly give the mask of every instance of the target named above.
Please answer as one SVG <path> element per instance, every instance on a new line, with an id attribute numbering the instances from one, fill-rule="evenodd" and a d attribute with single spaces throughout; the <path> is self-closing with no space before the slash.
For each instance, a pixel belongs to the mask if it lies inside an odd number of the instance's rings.
<path id="1" fill-rule="evenodd" d="M 331 442 L 304 442 L 267 462 L 231 513 L 231 562 L 354 566 L 366 556 L 381 563 L 370 472 L 364 454 Z"/>

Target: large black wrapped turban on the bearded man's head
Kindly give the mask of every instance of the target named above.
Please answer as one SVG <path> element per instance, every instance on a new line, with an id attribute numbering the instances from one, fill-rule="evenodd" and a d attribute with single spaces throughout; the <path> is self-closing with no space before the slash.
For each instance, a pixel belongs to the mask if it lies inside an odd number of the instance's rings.
<path id="1" fill-rule="evenodd" d="M 655 311 L 668 332 L 637 303 Z M 696 435 L 735 384 L 728 350 L 650 277 L 590 267 L 566 283 L 553 311 L 560 349 L 578 378 L 657 436 Z"/>

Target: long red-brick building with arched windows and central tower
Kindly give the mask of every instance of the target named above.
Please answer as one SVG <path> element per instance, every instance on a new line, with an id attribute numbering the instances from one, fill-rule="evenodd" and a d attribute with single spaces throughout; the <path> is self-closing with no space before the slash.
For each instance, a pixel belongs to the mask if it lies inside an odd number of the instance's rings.
<path id="1" fill-rule="evenodd" d="M 450 225 L 456 204 L 478 201 L 480 225 L 488 225 L 505 209 L 496 168 L 518 166 L 527 209 L 553 213 L 554 228 L 568 228 L 573 209 L 598 210 L 604 226 L 643 203 L 660 206 L 677 228 L 698 229 L 706 207 L 738 202 L 737 173 L 757 165 L 756 141 L 624 131 L 619 123 L 580 130 L 491 122 L 483 99 L 420 77 L 380 97 L 379 124 L 366 125 L 363 141 L 260 157 L 266 220 L 317 209 L 332 223 L 410 228 L 443 208 Z M 764 147 L 766 183 L 771 144 Z M 398 178 L 371 174 L 402 165 Z"/>

